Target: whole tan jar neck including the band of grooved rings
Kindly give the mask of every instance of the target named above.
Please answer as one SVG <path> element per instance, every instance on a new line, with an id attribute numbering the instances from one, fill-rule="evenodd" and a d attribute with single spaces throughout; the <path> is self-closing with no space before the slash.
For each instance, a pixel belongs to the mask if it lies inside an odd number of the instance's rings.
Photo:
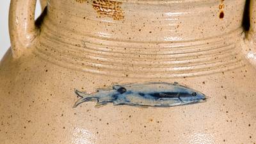
<path id="1" fill-rule="evenodd" d="M 134 78 L 237 68 L 245 1 L 236 1 L 225 1 L 220 18 L 220 1 L 52 0 L 35 53 L 68 68 Z"/>

